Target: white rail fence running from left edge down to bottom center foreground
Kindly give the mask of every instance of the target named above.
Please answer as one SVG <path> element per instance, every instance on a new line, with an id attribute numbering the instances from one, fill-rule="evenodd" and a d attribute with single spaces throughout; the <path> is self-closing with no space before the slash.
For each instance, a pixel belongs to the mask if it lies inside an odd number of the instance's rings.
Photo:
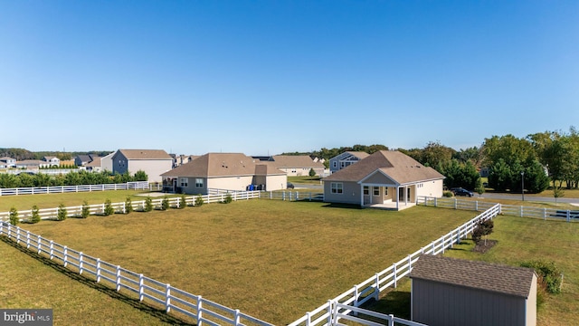
<path id="1" fill-rule="evenodd" d="M 138 295 L 141 302 L 155 302 L 162 305 L 166 312 L 191 318 L 197 325 L 204 323 L 208 325 L 272 325 L 239 310 L 204 299 L 201 295 L 185 292 L 169 283 L 161 283 L 142 273 L 129 271 L 119 265 L 110 264 L 100 258 L 73 250 L 66 245 L 57 244 L 7 222 L 0 222 L 0 235 L 5 235 L 16 244 L 25 245 L 37 254 L 56 260 L 64 267 L 92 278 L 97 283 L 106 284 L 118 292 L 127 290 Z"/>

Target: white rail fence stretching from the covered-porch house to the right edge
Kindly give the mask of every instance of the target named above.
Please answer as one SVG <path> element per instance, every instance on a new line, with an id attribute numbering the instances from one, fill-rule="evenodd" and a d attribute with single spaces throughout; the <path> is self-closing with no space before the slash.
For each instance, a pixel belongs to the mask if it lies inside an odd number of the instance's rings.
<path id="1" fill-rule="evenodd" d="M 436 206 L 443 208 L 454 208 L 463 210 L 483 211 L 496 203 L 482 202 L 477 200 L 465 200 L 457 198 L 437 198 L 418 197 L 417 205 Z M 515 206 L 500 204 L 500 214 L 508 216 L 532 217 L 556 220 L 566 220 L 567 222 L 579 222 L 579 210 L 556 209 L 532 206 Z"/>

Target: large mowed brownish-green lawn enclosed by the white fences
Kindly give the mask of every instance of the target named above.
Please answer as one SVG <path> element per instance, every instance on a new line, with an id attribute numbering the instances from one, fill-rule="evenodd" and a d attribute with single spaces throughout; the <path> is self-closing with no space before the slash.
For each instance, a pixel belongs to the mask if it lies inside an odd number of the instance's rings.
<path id="1" fill-rule="evenodd" d="M 393 212 L 253 199 L 22 226 L 281 325 L 475 215 L 423 206 Z M 14 267 L 27 269 L 28 264 Z M 9 286 L 19 293 L 18 283 Z M 101 313 L 115 309 L 111 302 Z"/>

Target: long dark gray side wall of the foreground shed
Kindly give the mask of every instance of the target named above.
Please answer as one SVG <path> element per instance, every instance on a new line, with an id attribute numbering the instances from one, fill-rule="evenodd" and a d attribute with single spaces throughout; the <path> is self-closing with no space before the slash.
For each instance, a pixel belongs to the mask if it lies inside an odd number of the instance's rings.
<path id="1" fill-rule="evenodd" d="M 432 326 L 526 325 L 526 298 L 416 278 L 412 287 L 413 321 Z"/>

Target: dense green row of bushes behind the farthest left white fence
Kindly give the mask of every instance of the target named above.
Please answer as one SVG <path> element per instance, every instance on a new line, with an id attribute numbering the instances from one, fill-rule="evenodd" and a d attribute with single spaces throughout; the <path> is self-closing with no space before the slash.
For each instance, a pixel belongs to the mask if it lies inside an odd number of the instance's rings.
<path id="1" fill-rule="evenodd" d="M 59 174 L 50 176 L 43 173 L 27 174 L 21 173 L 19 175 L 0 174 L 0 187 L 14 188 L 14 187 L 54 187 L 54 186 L 81 186 L 81 185 L 102 185 L 102 184 L 118 184 L 132 181 L 147 181 L 147 173 L 138 170 L 134 175 L 129 175 L 128 172 L 110 173 L 109 171 L 102 172 L 70 172 L 67 174 Z"/>

